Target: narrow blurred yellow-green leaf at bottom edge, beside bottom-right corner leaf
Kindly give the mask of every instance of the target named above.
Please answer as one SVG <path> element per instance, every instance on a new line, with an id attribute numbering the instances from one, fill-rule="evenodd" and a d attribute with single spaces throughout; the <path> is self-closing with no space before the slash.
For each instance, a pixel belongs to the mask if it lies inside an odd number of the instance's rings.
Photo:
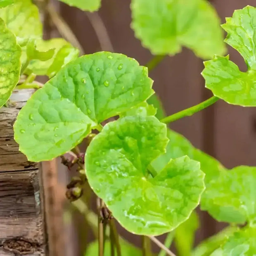
<path id="1" fill-rule="evenodd" d="M 216 235 L 205 239 L 201 244 L 199 244 L 194 251 L 192 251 L 192 256 L 209 256 L 213 251 L 215 251 L 220 244 L 226 242 L 227 238 L 234 234 L 239 228 L 229 226 Z"/>

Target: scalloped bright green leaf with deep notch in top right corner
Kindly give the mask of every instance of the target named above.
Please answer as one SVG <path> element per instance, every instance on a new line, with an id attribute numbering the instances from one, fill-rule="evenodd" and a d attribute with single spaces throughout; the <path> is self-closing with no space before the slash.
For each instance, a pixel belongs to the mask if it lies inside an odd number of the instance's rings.
<path id="1" fill-rule="evenodd" d="M 247 72 L 227 57 L 216 56 L 204 63 L 202 75 L 206 88 L 230 104 L 256 106 L 256 8 L 236 10 L 222 25 L 228 36 L 225 42 L 235 48 L 248 66 Z"/>

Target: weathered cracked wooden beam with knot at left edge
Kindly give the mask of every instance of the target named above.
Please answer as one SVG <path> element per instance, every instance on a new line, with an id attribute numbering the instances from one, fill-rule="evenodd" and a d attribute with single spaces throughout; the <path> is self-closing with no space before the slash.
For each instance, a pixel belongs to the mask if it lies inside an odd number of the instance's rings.
<path id="1" fill-rule="evenodd" d="M 0 255 L 45 256 L 43 192 L 38 164 L 28 162 L 13 138 L 17 114 L 33 90 L 15 91 L 0 109 Z"/>

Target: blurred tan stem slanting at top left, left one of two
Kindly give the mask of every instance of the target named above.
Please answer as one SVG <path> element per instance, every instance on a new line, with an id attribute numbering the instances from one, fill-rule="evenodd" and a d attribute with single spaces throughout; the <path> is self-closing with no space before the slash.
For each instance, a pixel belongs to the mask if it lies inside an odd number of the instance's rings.
<path id="1" fill-rule="evenodd" d="M 76 35 L 73 33 L 66 21 L 64 21 L 64 19 L 58 14 L 52 4 L 48 4 L 47 12 L 49 13 L 50 19 L 52 20 L 53 24 L 55 24 L 61 36 L 66 40 L 69 40 L 71 45 L 78 48 L 80 54 L 84 55 L 83 47 L 76 38 Z"/>

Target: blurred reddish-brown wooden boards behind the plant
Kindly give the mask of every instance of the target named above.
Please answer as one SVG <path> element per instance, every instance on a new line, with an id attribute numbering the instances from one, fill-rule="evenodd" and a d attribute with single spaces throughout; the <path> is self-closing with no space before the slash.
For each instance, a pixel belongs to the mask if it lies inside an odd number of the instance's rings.
<path id="1" fill-rule="evenodd" d="M 216 7 L 222 23 L 225 22 L 225 17 L 232 16 L 235 9 L 256 5 L 256 0 L 212 0 L 211 2 Z M 55 3 L 60 14 L 76 34 L 85 53 L 102 50 L 87 14 L 76 8 Z M 114 51 L 134 57 L 143 65 L 152 58 L 152 55 L 134 37 L 130 28 L 129 5 L 130 0 L 102 0 L 99 15 L 107 27 Z M 53 35 L 57 35 L 56 31 Z M 230 59 L 245 70 L 242 57 L 230 47 L 228 49 Z M 149 74 L 154 79 L 154 90 L 161 97 L 167 114 L 173 114 L 211 97 L 211 92 L 204 88 L 204 80 L 200 75 L 202 69 L 202 60 L 195 57 L 190 50 L 183 49 L 182 53 L 174 57 L 166 57 Z M 255 108 L 232 106 L 219 101 L 192 117 L 172 123 L 172 128 L 185 135 L 194 146 L 216 157 L 228 168 L 241 164 L 256 166 Z M 66 179 L 64 172 L 60 171 L 59 180 L 64 184 Z M 77 218 L 82 221 L 79 216 Z M 74 223 L 77 222 L 79 223 L 79 221 Z M 81 241 L 78 236 L 79 229 L 74 223 L 66 229 L 66 239 L 73 242 L 73 247 L 70 243 L 65 247 L 67 256 L 80 255 L 83 248 L 83 243 L 79 244 Z M 197 242 L 223 227 L 223 224 L 215 223 L 206 213 L 201 213 L 201 225 L 202 228 L 197 233 Z M 121 232 L 125 234 L 123 230 Z M 140 244 L 136 236 L 129 234 L 125 236 L 130 241 Z"/>

